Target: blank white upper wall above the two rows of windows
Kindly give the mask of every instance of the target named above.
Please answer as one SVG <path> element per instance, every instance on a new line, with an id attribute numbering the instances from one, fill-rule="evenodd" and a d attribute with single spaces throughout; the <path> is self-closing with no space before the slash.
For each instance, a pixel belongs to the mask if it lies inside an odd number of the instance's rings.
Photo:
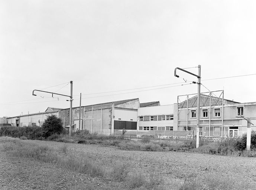
<path id="1" fill-rule="evenodd" d="M 170 115 L 174 113 L 174 105 L 160 105 L 138 108 L 138 116 L 144 115 Z"/>

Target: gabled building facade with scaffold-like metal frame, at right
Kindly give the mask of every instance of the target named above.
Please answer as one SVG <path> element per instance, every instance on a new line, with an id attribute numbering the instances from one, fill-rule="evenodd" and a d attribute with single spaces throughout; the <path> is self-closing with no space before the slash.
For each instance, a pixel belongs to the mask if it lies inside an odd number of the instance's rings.
<path id="1" fill-rule="evenodd" d="M 217 92 L 220 92 L 220 96 L 214 94 Z M 178 130 L 191 131 L 191 134 L 195 135 L 197 96 L 185 96 L 185 101 L 178 102 L 175 106 L 175 123 Z M 199 113 L 200 136 L 238 137 L 247 132 L 247 127 L 256 130 L 256 102 L 239 103 L 224 99 L 224 91 L 201 94 Z"/>

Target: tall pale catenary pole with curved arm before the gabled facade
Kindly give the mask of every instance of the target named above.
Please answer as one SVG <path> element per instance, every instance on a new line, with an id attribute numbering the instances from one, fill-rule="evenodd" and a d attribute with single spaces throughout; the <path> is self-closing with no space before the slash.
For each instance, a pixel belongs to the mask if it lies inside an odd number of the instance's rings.
<path id="1" fill-rule="evenodd" d="M 196 76 L 197 77 L 197 139 L 196 139 L 196 147 L 198 148 L 199 147 L 199 130 L 200 130 L 200 87 L 201 87 L 201 65 L 198 65 L 198 75 L 195 75 L 194 73 L 191 73 L 191 72 L 188 72 L 184 69 L 181 69 L 181 68 L 178 68 L 176 67 L 174 69 L 174 76 L 178 77 L 179 78 L 179 75 L 176 75 L 176 69 L 178 70 L 181 70 L 181 71 L 184 71 L 190 75 L 193 75 L 193 76 Z M 193 82 L 193 83 L 196 83 L 196 82 Z M 179 105 L 178 105 L 178 109 L 179 109 Z M 178 119 L 178 118 L 177 118 Z"/>

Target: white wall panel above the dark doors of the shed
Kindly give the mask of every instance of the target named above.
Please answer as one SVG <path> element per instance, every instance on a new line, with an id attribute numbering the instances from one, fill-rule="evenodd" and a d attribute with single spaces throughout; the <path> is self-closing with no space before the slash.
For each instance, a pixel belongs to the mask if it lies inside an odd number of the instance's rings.
<path id="1" fill-rule="evenodd" d="M 116 121 L 137 121 L 137 110 L 115 108 L 114 115 Z"/>

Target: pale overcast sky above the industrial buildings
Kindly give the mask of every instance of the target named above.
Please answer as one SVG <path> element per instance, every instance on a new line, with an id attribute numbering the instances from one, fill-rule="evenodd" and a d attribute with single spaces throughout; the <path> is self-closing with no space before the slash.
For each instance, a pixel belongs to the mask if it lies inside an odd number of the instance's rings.
<path id="1" fill-rule="evenodd" d="M 69 108 L 64 96 L 32 96 L 44 88 L 69 95 L 69 81 L 75 107 L 80 92 L 91 94 L 82 105 L 132 98 L 174 104 L 197 93 L 197 84 L 173 84 L 197 81 L 182 71 L 174 77 L 174 69 L 198 65 L 210 91 L 255 102 L 255 9 L 253 0 L 1 0 L 0 117 Z M 250 76 L 203 81 L 238 75 Z M 109 91 L 119 92 L 93 94 Z M 123 94 L 133 91 L 142 92 Z"/>

